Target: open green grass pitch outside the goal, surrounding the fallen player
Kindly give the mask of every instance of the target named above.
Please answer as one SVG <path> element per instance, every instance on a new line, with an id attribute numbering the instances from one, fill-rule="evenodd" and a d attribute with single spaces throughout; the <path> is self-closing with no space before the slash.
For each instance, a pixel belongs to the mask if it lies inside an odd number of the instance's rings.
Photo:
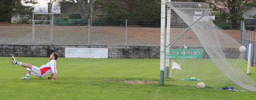
<path id="1" fill-rule="evenodd" d="M 49 61 L 40 57 L 17 57 L 40 67 Z M 56 81 L 31 75 L 20 80 L 26 68 L 0 57 L 0 99 L 254 99 L 256 93 L 197 89 L 176 85 L 129 84 L 109 80 L 159 81 L 159 59 L 67 59 L 57 60 Z M 246 62 L 243 70 L 246 71 Z M 256 67 L 249 75 L 256 80 Z"/>

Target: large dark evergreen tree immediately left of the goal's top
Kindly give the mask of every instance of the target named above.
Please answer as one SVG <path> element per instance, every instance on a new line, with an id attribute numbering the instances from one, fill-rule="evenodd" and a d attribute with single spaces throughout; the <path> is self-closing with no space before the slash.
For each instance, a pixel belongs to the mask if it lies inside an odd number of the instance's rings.
<path id="1" fill-rule="evenodd" d="M 158 0 L 97 0 L 108 12 L 109 19 L 115 20 L 160 20 Z"/>

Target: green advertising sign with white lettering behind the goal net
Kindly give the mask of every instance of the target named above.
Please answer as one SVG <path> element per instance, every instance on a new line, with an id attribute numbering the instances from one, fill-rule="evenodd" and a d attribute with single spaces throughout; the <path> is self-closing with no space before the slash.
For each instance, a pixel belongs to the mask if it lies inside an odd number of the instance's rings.
<path id="1" fill-rule="evenodd" d="M 203 49 L 170 49 L 170 59 L 203 59 Z"/>

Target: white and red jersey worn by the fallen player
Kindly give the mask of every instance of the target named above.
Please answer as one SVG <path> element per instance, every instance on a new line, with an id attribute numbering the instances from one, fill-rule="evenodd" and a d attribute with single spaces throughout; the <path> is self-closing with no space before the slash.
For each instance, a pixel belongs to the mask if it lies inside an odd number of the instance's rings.
<path id="1" fill-rule="evenodd" d="M 56 69 L 56 61 L 55 60 L 51 60 L 49 61 L 47 64 L 45 65 L 42 65 L 40 67 L 40 70 L 41 70 L 41 76 L 44 77 L 46 76 L 47 74 L 49 73 L 57 73 L 57 69 Z"/>

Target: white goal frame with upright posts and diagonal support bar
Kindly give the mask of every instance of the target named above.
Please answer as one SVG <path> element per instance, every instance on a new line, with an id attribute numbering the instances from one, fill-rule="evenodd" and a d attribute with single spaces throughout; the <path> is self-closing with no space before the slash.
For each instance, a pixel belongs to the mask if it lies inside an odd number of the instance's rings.
<path id="1" fill-rule="evenodd" d="M 191 4 L 205 4 L 208 5 L 207 11 L 204 12 L 199 19 L 191 24 L 188 28 L 186 28 L 180 35 L 178 35 L 174 40 L 170 42 L 170 31 L 171 31 L 171 8 L 167 6 L 166 11 L 166 4 L 167 3 L 191 3 Z M 170 47 L 174 44 L 177 40 L 181 38 L 191 27 L 197 23 L 200 19 L 204 17 L 205 14 L 209 11 L 209 4 L 208 3 L 200 3 L 200 2 L 171 2 L 171 0 L 161 0 L 161 26 L 160 26 L 160 85 L 164 84 L 164 69 L 166 69 L 166 78 L 168 78 L 169 74 L 169 64 L 170 64 Z M 167 15 L 166 15 L 167 13 Z M 166 16 L 167 16 L 167 23 L 166 23 Z M 166 31 L 165 31 L 166 30 Z M 167 36 L 165 36 L 165 34 Z M 166 40 L 165 40 L 166 38 Z M 166 41 L 166 43 L 164 43 Z M 168 44 L 168 45 L 167 45 Z M 166 49 L 166 51 L 165 51 Z M 166 53 L 166 58 L 164 58 L 164 53 Z M 165 62 L 165 63 L 164 63 Z"/>

